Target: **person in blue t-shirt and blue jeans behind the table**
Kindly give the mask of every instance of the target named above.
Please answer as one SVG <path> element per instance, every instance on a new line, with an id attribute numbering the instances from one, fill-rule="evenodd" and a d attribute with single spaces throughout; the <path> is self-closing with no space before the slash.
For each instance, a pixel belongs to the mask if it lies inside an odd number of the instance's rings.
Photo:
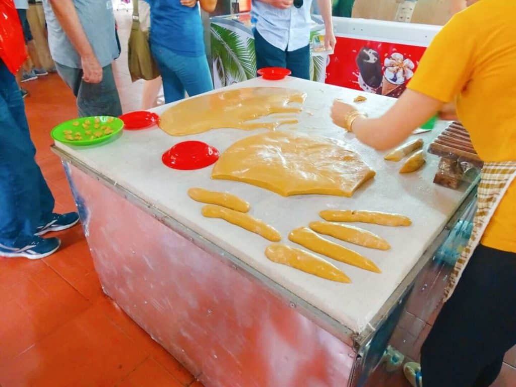
<path id="1" fill-rule="evenodd" d="M 217 0 L 148 0 L 150 44 L 163 78 L 165 103 L 213 90 L 199 3 L 213 12 Z M 157 82 L 157 81 L 156 81 Z"/>

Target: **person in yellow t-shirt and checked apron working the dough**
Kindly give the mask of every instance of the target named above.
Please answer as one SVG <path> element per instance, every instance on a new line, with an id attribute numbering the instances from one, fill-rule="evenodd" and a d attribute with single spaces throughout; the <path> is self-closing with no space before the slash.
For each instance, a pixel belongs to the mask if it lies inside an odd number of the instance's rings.
<path id="1" fill-rule="evenodd" d="M 454 119 L 456 111 L 484 162 L 472 238 L 421 367 L 409 375 L 415 386 L 424 379 L 425 387 L 487 387 L 516 344 L 516 2 L 467 3 L 382 117 L 368 119 L 338 100 L 331 111 L 334 123 L 378 150 L 393 148 L 436 112 Z"/>

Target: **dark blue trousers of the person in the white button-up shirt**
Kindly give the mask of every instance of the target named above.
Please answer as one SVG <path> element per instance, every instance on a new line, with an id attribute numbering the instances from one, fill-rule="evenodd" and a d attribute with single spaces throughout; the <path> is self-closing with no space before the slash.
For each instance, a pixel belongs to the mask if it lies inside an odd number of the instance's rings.
<path id="1" fill-rule="evenodd" d="M 283 51 L 267 42 L 254 29 L 254 50 L 257 70 L 264 67 L 282 67 L 292 71 L 292 76 L 296 78 L 310 80 L 310 45 L 295 51 Z"/>

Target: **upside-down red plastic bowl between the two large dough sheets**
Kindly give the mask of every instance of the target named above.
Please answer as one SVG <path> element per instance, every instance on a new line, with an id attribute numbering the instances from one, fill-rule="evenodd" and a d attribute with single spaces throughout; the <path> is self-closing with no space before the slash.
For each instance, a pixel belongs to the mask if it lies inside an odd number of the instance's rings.
<path id="1" fill-rule="evenodd" d="M 214 164 L 219 151 L 202 141 L 184 141 L 175 144 L 162 156 L 163 164 L 172 169 L 193 170 Z"/>

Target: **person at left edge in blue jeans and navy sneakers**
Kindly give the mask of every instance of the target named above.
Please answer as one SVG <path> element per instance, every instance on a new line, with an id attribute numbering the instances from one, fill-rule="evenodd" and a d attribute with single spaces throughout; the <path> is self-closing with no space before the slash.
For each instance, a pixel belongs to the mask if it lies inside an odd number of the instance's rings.
<path id="1" fill-rule="evenodd" d="M 11 3 L 12 4 L 12 3 Z M 4 5 L 4 7 L 6 7 Z M 20 21 L 2 14 L 2 24 L 11 30 Z M 55 252 L 58 238 L 41 235 L 65 230 L 79 220 L 77 213 L 54 214 L 54 198 L 34 159 L 25 106 L 13 73 L 24 50 L 23 40 L 9 34 L 0 39 L 0 256 L 40 259 Z M 21 31 L 19 34 L 22 37 Z M 6 66 L 10 63 L 10 70 Z"/>

